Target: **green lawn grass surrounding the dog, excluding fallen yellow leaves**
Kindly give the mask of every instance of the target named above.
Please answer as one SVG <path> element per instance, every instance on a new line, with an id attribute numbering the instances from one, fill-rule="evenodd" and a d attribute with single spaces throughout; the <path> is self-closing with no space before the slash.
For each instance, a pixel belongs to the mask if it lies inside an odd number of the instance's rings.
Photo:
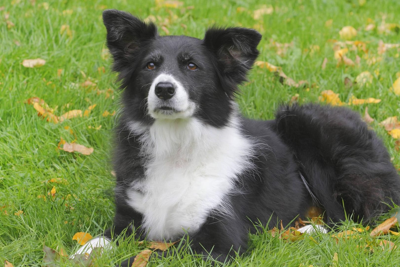
<path id="1" fill-rule="evenodd" d="M 33 1 L 34 2 L 34 1 Z M 160 2 L 160 1 L 158 1 Z M 360 1 L 362 2 L 362 1 Z M 272 14 L 254 20 L 253 11 L 263 4 L 273 6 Z M 187 1 L 179 8 L 158 7 L 154 1 L 100 1 L 63 0 L 42 1 L 31 4 L 28 0 L 0 2 L 0 262 L 8 260 L 14 266 L 41 265 L 43 245 L 53 249 L 64 248 L 68 254 L 76 250 L 72 236 L 86 231 L 93 236 L 110 227 L 113 217 L 113 177 L 110 174 L 110 150 L 112 126 L 116 116 L 103 117 L 105 110 L 118 110 L 120 92 L 114 84 L 115 74 L 109 70 L 111 61 L 102 57 L 105 48 L 105 28 L 101 12 L 105 8 L 129 11 L 146 18 L 156 16 L 159 27 L 165 26 L 170 34 L 186 34 L 202 38 L 204 30 L 212 24 L 256 27 L 263 34 L 258 46 L 259 60 L 281 66 L 294 80 L 307 80 L 310 86 L 290 87 L 282 85 L 268 70 L 255 67 L 247 84 L 241 87 L 238 102 L 246 116 L 272 118 L 275 108 L 299 94 L 299 102 L 318 101 L 323 90 L 333 90 L 347 102 L 350 96 L 382 99 L 378 104 L 350 106 L 363 114 L 366 106 L 375 118 L 371 124 L 393 157 L 400 165 L 400 154 L 394 149 L 395 139 L 378 125 L 388 116 L 400 113 L 400 97 L 389 90 L 396 72 L 400 71 L 399 50 L 392 49 L 382 55 L 382 60 L 369 65 L 362 58 L 359 66 L 336 67 L 332 43 L 339 39 L 339 30 L 346 25 L 358 30 L 357 40 L 367 43 L 370 56 L 378 56 L 379 40 L 385 43 L 399 42 L 399 34 L 380 34 L 377 30 L 365 31 L 367 23 L 379 26 L 382 16 L 388 23 L 400 23 L 398 0 L 372 1 L 360 5 L 357 0 L 325 1 Z M 193 8 L 187 8 L 193 6 Z M 48 7 L 46 9 L 46 7 Z M 241 7 L 242 9 L 238 9 Z M 72 14 L 64 10 L 73 10 Z M 8 29 L 8 20 L 15 24 Z M 333 20 L 332 26 L 325 22 Z M 368 22 L 370 19 L 370 22 Z M 184 25 L 182 25 L 184 24 Z M 62 25 L 69 25 L 72 37 L 60 34 Z M 160 34 L 165 34 L 160 29 Z M 286 54 L 280 56 L 270 39 L 279 43 L 293 42 Z M 18 43 L 19 45 L 17 45 Z M 318 45 L 314 53 L 307 51 Z M 354 60 L 356 53 L 349 52 Z M 324 58 L 328 58 L 326 69 L 321 69 Z M 25 68 L 21 62 L 28 58 L 43 58 L 46 64 L 39 68 Z M 105 73 L 98 68 L 105 67 Z M 63 69 L 57 75 L 57 69 Z M 374 78 L 368 87 L 354 85 L 346 88 L 344 78 L 352 80 L 362 71 L 370 71 Z M 379 74 L 376 74 L 379 70 Z M 87 76 L 83 76 L 82 72 Z M 106 99 L 96 89 L 83 88 L 82 82 L 90 79 L 99 90 L 115 90 L 114 98 Z M 311 86 L 313 85 L 313 86 Z M 310 88 L 309 90 L 307 88 Z M 60 124 L 46 122 L 37 116 L 32 105 L 24 100 L 38 96 L 55 113 L 61 115 L 72 109 L 86 109 L 97 104 L 90 116 L 73 118 Z M 118 113 L 117 113 L 118 114 Z M 102 127 L 99 130 L 88 126 Z M 74 136 L 64 129 L 70 126 L 77 143 L 93 147 L 89 156 L 57 150 L 60 137 L 67 142 Z M 66 183 L 43 183 L 60 177 Z M 56 187 L 55 197 L 47 194 Z M 390 186 L 390 185 L 388 185 Z M 47 199 L 38 198 L 46 195 Z M 22 210 L 22 215 L 14 215 Z M 6 214 L 7 213 L 7 214 Z M 351 229 L 349 222 L 345 227 Z M 372 240 L 368 233 L 362 239 L 339 240 L 330 235 L 316 235 L 297 242 L 285 242 L 272 238 L 269 233 L 251 236 L 254 249 L 238 257 L 232 266 L 335 266 L 334 253 L 338 253 L 340 266 L 399 266 L 399 249 L 374 249 L 367 253 L 362 247 Z M 384 236 L 400 247 L 400 239 Z M 113 266 L 126 257 L 136 255 L 143 247 L 135 242 L 122 242 L 118 248 L 98 259 L 99 266 Z M 170 250 L 170 256 L 154 259 L 151 266 L 209 266 L 195 259 L 188 251 Z"/>

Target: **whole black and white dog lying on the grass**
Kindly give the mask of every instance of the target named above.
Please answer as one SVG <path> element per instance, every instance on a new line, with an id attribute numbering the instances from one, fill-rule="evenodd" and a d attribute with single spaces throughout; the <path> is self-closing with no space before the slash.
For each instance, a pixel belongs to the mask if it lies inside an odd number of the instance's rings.
<path id="1" fill-rule="evenodd" d="M 214 27 L 200 40 L 159 36 L 118 10 L 103 20 L 124 89 L 116 215 L 77 253 L 110 247 L 122 232 L 187 234 L 193 251 L 224 260 L 246 250 L 254 224 L 287 225 L 316 205 L 327 223 L 345 214 L 367 222 L 400 204 L 386 148 L 351 110 L 306 104 L 282 106 L 269 121 L 241 116 L 234 98 L 258 56 L 256 30 Z"/>

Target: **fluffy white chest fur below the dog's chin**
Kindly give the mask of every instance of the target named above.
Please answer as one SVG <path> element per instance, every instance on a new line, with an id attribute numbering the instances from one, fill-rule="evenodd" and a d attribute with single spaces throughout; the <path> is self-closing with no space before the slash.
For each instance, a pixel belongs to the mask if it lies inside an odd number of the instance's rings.
<path id="1" fill-rule="evenodd" d="M 212 209 L 229 216 L 226 196 L 238 193 L 236 177 L 251 165 L 250 142 L 236 126 L 156 120 L 141 143 L 148 157 L 146 177 L 132 184 L 128 204 L 142 213 L 148 239 L 174 240 L 194 232 Z"/>

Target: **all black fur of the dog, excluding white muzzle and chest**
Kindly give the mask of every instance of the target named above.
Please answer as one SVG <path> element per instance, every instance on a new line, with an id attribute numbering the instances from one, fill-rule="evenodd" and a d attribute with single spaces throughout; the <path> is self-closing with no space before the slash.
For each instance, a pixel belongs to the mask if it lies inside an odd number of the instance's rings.
<path id="1" fill-rule="evenodd" d="M 125 229 L 137 239 L 145 236 L 142 215 L 126 203 L 130 183 L 144 179 L 140 134 L 130 121 L 151 125 L 146 97 L 158 71 L 168 69 L 187 86 L 190 100 L 198 104 L 193 115 L 216 128 L 227 126 L 235 115 L 231 98 L 258 56 L 261 35 L 245 28 L 211 28 L 203 40 L 188 36 L 158 36 L 156 26 L 117 11 L 103 13 L 107 44 L 124 89 L 123 112 L 114 155 L 116 215 L 112 238 Z M 148 71 L 147 62 L 157 68 Z M 195 62 L 198 70 L 182 66 Z M 244 171 L 237 187 L 242 194 L 228 196 L 234 219 L 212 211 L 200 229 L 189 236 L 196 253 L 224 260 L 246 251 L 254 223 L 272 227 L 289 224 L 309 207 L 320 203 L 328 223 L 340 223 L 345 211 L 364 222 L 386 211 L 384 204 L 400 203 L 400 179 L 388 152 L 360 116 L 347 108 L 308 104 L 283 106 L 269 121 L 238 116 L 242 134 L 258 146 L 256 168 Z M 313 201 L 301 176 L 318 199 Z M 344 208 L 343 208 L 344 207 Z M 268 223 L 269 222 L 269 223 Z M 231 249 L 232 248 L 232 249 Z M 129 259 L 132 264 L 133 259 Z M 123 263 L 128 266 L 128 261 Z"/>

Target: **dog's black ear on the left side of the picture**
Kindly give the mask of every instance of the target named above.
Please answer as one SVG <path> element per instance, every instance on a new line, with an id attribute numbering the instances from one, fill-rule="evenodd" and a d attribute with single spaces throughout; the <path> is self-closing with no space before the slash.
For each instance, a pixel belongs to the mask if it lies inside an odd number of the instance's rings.
<path id="1" fill-rule="evenodd" d="M 154 23 L 145 23 L 131 14 L 119 10 L 103 11 L 107 29 L 107 46 L 114 58 L 114 70 L 121 71 L 127 60 L 157 36 Z"/>

